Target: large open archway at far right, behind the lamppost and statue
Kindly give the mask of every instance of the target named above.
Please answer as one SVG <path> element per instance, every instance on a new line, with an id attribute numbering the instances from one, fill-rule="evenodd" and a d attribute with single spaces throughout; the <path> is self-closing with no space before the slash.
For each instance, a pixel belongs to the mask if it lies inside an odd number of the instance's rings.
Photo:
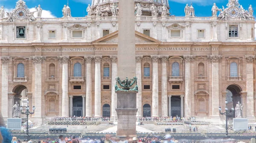
<path id="1" fill-rule="evenodd" d="M 241 92 L 240 88 L 236 85 L 230 85 L 227 87 L 227 95 L 226 95 L 226 100 L 227 100 L 227 108 L 231 109 L 232 106 L 235 108 L 237 102 L 241 102 L 241 95 L 239 94 Z M 231 110 L 230 110 L 231 112 Z M 228 115 L 228 118 L 235 118 L 236 114 L 234 115 Z"/>

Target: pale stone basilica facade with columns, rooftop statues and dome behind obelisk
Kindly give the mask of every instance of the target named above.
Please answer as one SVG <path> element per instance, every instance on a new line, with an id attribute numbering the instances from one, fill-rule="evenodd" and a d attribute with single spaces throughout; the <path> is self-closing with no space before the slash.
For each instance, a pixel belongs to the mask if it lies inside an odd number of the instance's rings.
<path id="1" fill-rule="evenodd" d="M 134 2 L 137 116 L 218 121 L 227 99 L 229 109 L 240 102 L 242 117 L 255 122 L 252 7 L 229 0 L 205 11 L 212 17 L 196 17 L 191 4 L 175 17 L 170 5 Z M 26 106 L 27 99 L 36 107 L 32 121 L 116 116 L 118 10 L 118 0 L 93 0 L 86 17 L 72 17 L 67 5 L 63 17 L 41 18 L 42 8 L 34 16 L 23 0 L 7 17 L 1 8 L 1 124 L 12 118 L 15 102 Z"/>

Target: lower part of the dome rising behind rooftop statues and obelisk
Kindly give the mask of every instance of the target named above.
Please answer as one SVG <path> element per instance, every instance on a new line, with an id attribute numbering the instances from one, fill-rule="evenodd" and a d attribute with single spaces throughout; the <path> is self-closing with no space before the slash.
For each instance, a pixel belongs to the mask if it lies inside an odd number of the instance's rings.
<path id="1" fill-rule="evenodd" d="M 116 3 L 118 6 L 118 2 L 119 0 L 92 0 L 91 6 L 94 11 L 92 12 L 92 15 L 96 15 L 96 12 L 95 12 L 96 6 L 99 5 L 101 9 L 101 16 L 112 16 L 111 5 L 113 5 L 113 3 Z M 168 0 L 134 0 L 134 8 L 136 7 L 136 3 L 140 3 L 142 6 L 142 16 L 151 16 L 150 8 L 152 4 L 156 6 L 157 13 L 160 16 L 162 13 L 163 4 L 166 4 L 167 8 L 170 9 Z M 117 7 L 117 11 L 118 11 L 118 7 Z M 168 11 L 168 14 L 169 14 L 169 11 Z"/>

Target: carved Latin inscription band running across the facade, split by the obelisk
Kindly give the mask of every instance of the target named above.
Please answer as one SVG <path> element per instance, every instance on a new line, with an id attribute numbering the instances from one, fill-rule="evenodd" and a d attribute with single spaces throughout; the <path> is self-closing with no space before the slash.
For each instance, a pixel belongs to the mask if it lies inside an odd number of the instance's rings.
<path id="1" fill-rule="evenodd" d="M 158 51 L 213 51 L 218 50 L 217 47 L 213 48 L 158 48 L 158 47 L 142 47 L 136 48 L 137 51 L 145 50 L 158 50 Z M 93 52 L 93 51 L 117 51 L 117 48 L 35 48 L 35 52 Z"/>

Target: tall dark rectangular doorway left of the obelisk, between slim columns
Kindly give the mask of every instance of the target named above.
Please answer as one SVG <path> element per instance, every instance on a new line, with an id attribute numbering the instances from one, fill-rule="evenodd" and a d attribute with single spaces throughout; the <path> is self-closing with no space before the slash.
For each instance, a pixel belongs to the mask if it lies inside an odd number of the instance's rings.
<path id="1" fill-rule="evenodd" d="M 83 98 L 81 96 L 73 97 L 73 116 L 82 117 L 83 113 Z"/>

